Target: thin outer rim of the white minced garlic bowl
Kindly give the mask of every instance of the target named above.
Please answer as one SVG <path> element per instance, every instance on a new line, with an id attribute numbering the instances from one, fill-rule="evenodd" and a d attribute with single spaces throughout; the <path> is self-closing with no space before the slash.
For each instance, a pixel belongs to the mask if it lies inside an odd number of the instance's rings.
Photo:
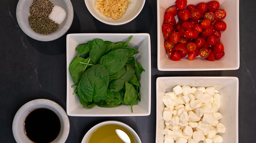
<path id="1" fill-rule="evenodd" d="M 87 7 L 87 9 L 89 10 L 89 12 L 91 13 L 91 15 L 96 18 L 98 21 L 102 22 L 102 23 L 105 23 L 105 24 L 108 24 L 108 25 L 112 25 L 112 26 L 120 26 L 120 25 L 124 25 L 124 24 L 127 24 L 129 22 L 131 22 L 134 18 L 136 18 L 139 13 L 141 12 L 141 10 L 143 9 L 144 7 L 144 4 L 146 2 L 146 0 L 143 0 L 143 4 L 141 4 L 141 6 L 139 7 L 139 10 L 138 12 L 136 13 L 136 15 L 134 15 L 132 18 L 128 19 L 128 20 L 125 20 L 123 22 L 118 22 L 118 23 L 112 23 L 112 22 L 108 22 L 106 20 L 103 20 L 102 18 L 98 17 L 96 14 L 94 14 L 93 10 L 91 9 L 89 3 L 88 3 L 88 0 L 84 0 L 85 1 L 85 5 Z M 125 13 L 124 13 L 125 14 Z"/>

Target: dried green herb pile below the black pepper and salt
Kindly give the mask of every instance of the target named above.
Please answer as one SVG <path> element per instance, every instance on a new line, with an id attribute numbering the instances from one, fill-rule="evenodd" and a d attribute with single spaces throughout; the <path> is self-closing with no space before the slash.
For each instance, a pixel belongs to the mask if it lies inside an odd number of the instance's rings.
<path id="1" fill-rule="evenodd" d="M 28 16 L 28 21 L 30 27 L 40 34 L 51 34 L 60 26 L 47 16 Z"/>

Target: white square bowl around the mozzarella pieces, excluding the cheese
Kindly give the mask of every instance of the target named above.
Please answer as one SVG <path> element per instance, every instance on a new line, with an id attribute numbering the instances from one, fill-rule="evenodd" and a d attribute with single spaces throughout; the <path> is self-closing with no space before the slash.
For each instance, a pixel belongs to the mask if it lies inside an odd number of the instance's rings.
<path id="1" fill-rule="evenodd" d="M 176 85 L 191 87 L 215 87 L 221 95 L 222 114 L 220 122 L 226 127 L 220 133 L 224 143 L 238 143 L 238 78 L 237 77 L 158 77 L 156 79 L 156 143 L 164 142 L 165 127 L 162 114 L 165 105 L 162 98 L 166 92 L 172 91 Z"/>

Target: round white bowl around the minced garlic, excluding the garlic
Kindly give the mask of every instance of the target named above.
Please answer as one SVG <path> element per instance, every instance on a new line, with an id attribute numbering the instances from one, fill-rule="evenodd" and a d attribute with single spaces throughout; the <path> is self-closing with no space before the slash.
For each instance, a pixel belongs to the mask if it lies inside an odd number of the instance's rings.
<path id="1" fill-rule="evenodd" d="M 94 7 L 96 0 L 85 0 L 85 5 L 89 12 L 100 22 L 106 23 L 108 25 L 123 25 L 129 23 L 134 18 L 136 18 L 140 11 L 142 10 L 146 0 L 131 0 L 129 7 L 121 18 L 117 20 L 112 19 L 111 17 L 107 18 L 102 15 L 98 10 Z"/>

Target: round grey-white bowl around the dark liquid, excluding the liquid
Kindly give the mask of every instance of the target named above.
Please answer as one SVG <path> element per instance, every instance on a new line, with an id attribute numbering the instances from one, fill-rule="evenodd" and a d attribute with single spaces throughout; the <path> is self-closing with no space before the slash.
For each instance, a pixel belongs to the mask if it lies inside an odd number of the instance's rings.
<path id="1" fill-rule="evenodd" d="M 24 122 L 27 115 L 35 109 L 47 108 L 52 110 L 60 119 L 60 133 L 51 143 L 65 142 L 69 134 L 69 118 L 65 110 L 56 102 L 48 99 L 35 99 L 19 108 L 12 122 L 12 133 L 17 143 L 34 143 L 29 140 L 24 131 Z"/>

